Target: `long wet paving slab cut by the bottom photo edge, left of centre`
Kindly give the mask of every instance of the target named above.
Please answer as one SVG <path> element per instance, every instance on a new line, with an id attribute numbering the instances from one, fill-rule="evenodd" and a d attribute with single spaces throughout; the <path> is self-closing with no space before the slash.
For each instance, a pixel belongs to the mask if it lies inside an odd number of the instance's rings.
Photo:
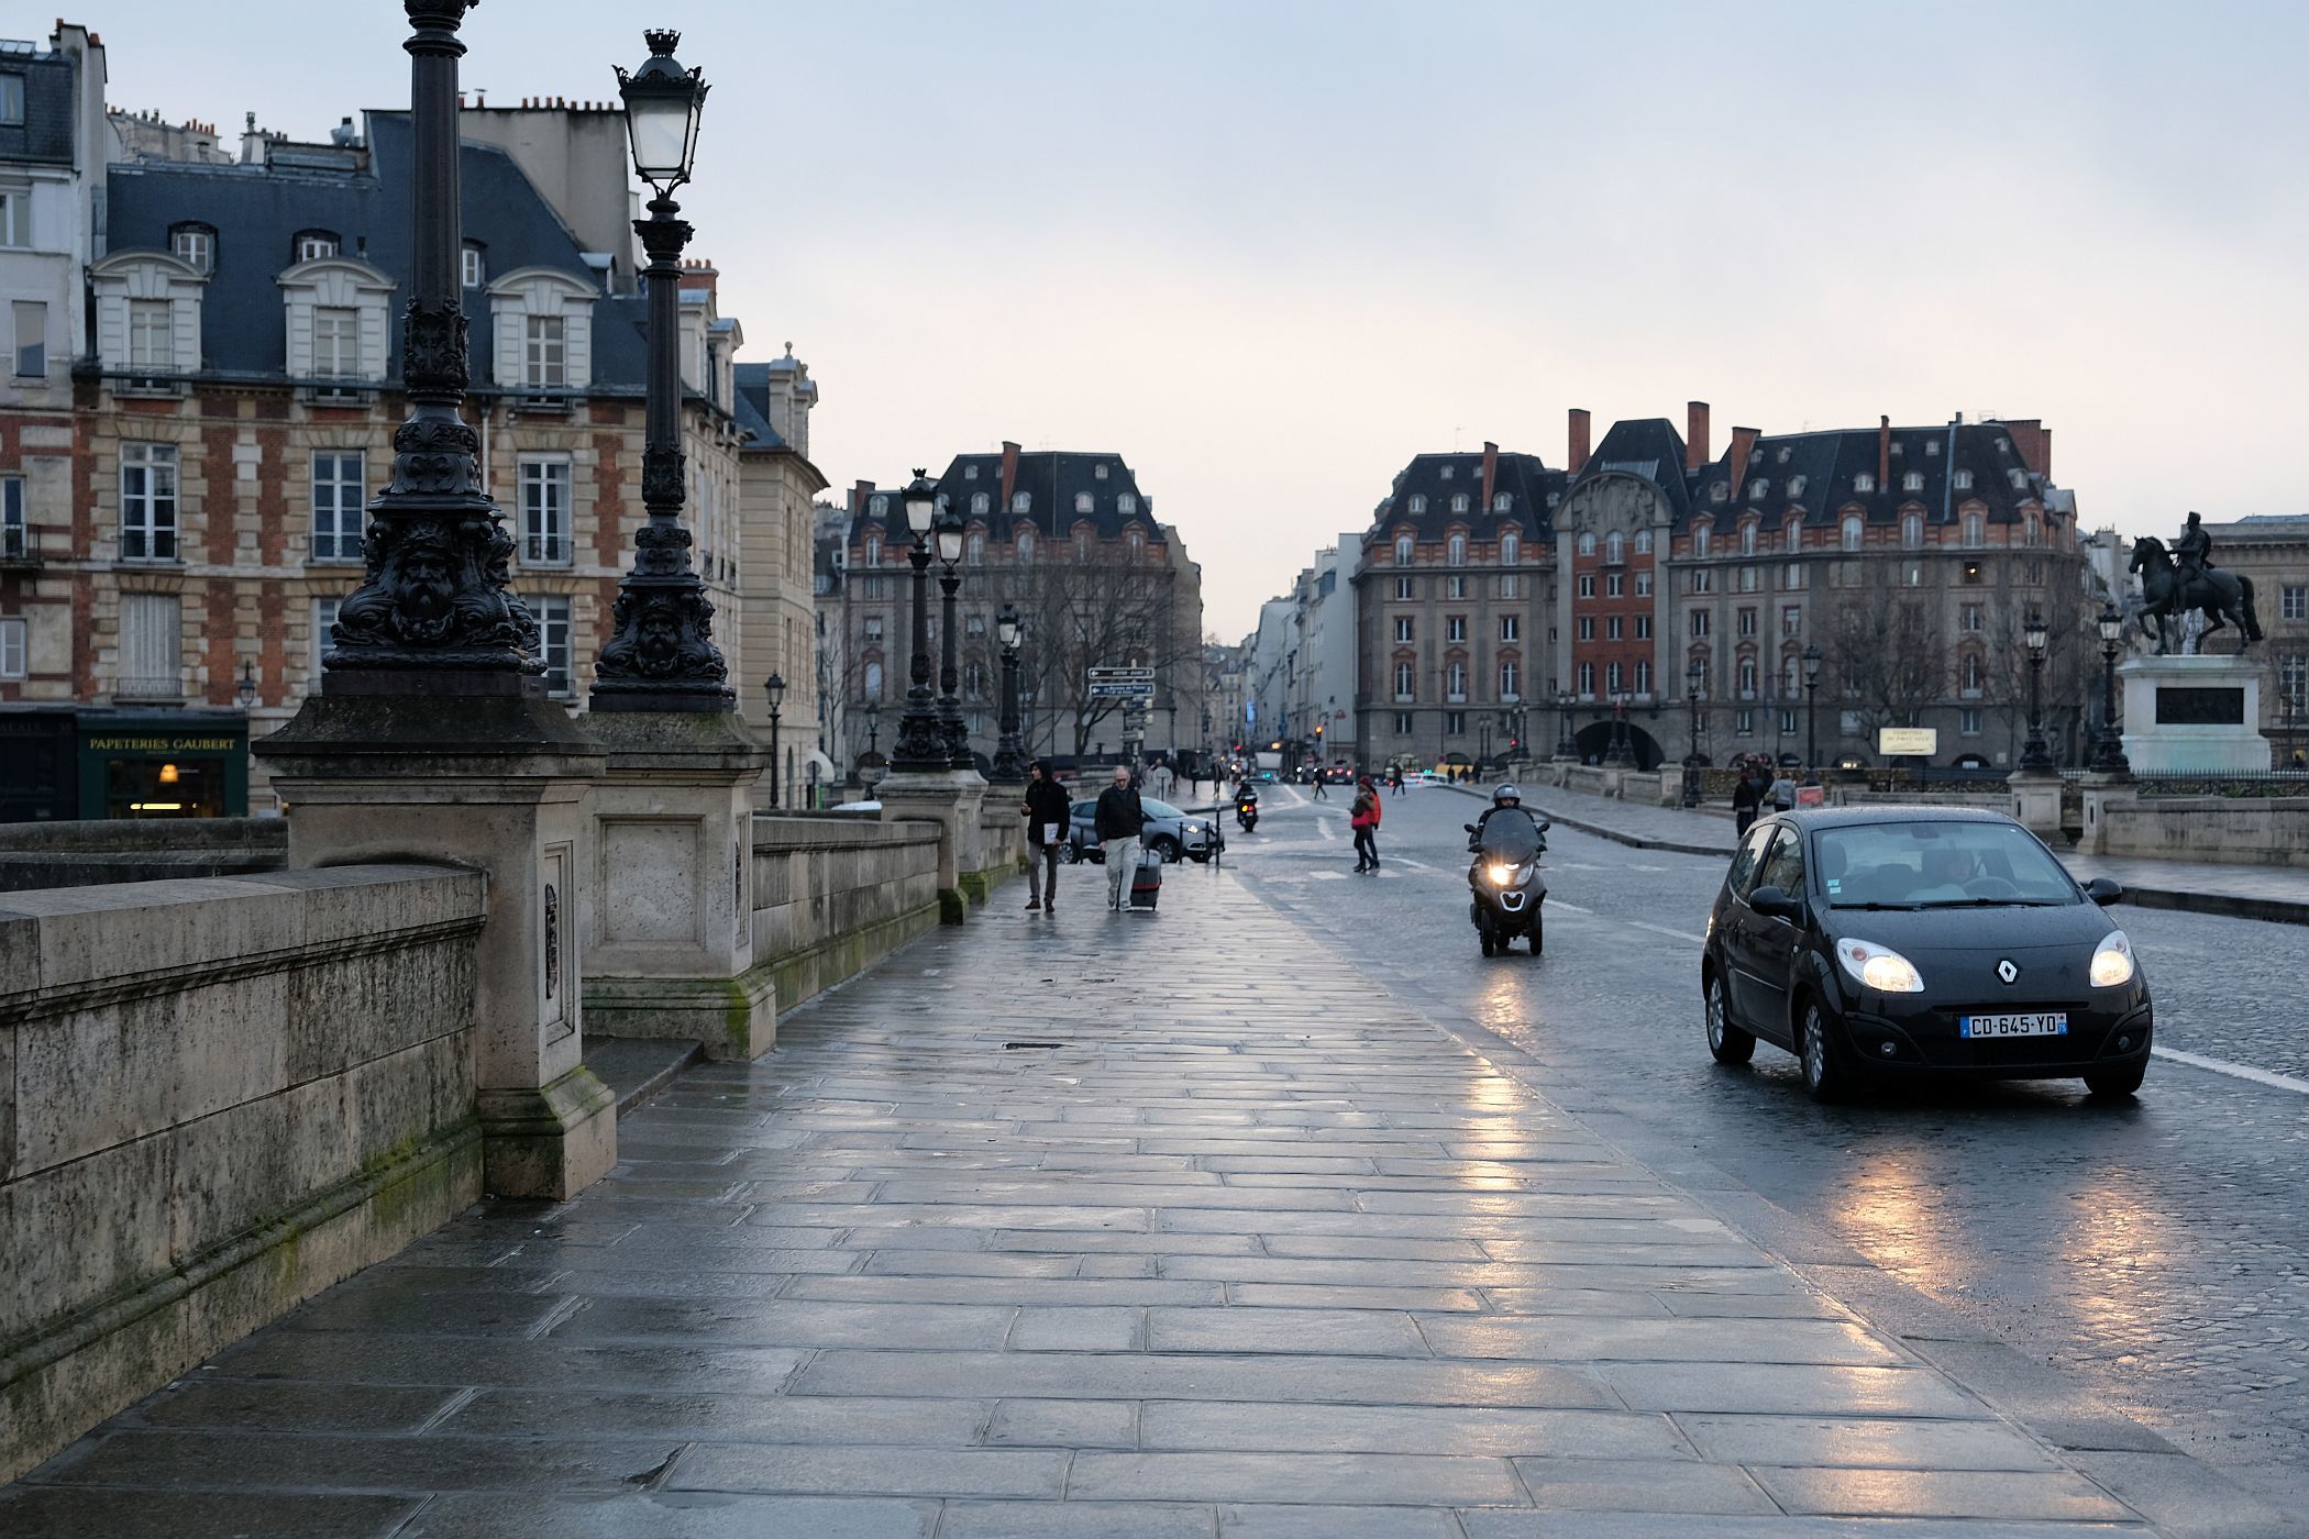
<path id="1" fill-rule="evenodd" d="M 937 1507 L 688 1491 L 552 1500 L 443 1495 L 393 1539 L 928 1539 Z"/>

